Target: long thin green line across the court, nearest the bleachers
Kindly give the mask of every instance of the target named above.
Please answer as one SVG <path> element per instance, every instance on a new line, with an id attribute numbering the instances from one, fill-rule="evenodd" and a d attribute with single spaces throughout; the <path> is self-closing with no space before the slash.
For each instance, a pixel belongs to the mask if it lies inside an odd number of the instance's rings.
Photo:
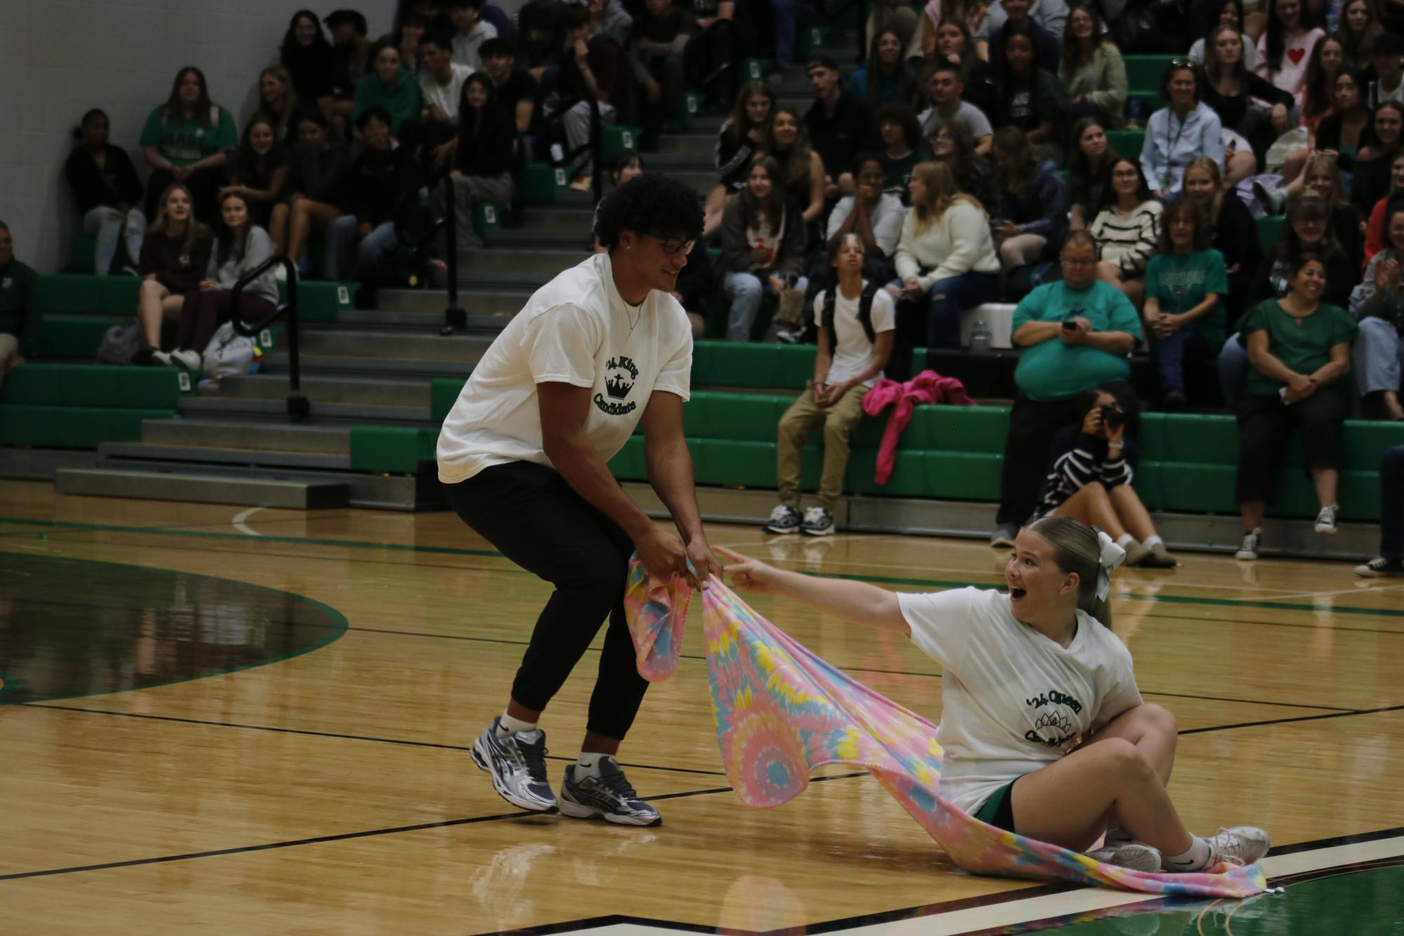
<path id="1" fill-rule="evenodd" d="M 149 533 L 153 536 L 192 536 L 199 539 L 243 540 L 261 543 L 299 543 L 303 546 L 337 546 L 341 549 L 379 549 L 393 553 L 424 553 L 431 556 L 477 556 L 489 559 L 503 559 L 503 554 L 493 549 L 463 549 L 458 546 L 418 546 L 414 543 L 368 543 L 354 539 L 314 539 L 307 536 L 250 536 L 247 533 L 223 533 L 213 530 L 191 530 L 171 528 L 125 526 L 121 523 L 74 523 L 70 521 L 27 519 L 22 516 L 0 516 L 0 525 L 8 526 L 44 526 L 49 529 L 88 530 L 98 533 Z M 804 573 L 813 575 L 814 573 Z M 911 585 L 915 588 L 987 588 L 990 582 L 945 581 L 938 578 L 897 578 L 890 575 L 848 575 L 830 574 L 824 578 L 847 578 L 859 582 L 878 582 L 882 585 Z M 1133 592 L 1118 592 L 1122 601 L 1147 601 L 1167 605 L 1203 605 L 1212 608 L 1264 608 L 1269 610 L 1330 610 L 1337 615 L 1373 615 L 1380 617 L 1404 617 L 1400 608 L 1351 608 L 1348 605 L 1302 605 L 1286 603 L 1273 599 L 1240 599 L 1240 598 L 1195 598 L 1191 595 L 1136 595 Z"/>

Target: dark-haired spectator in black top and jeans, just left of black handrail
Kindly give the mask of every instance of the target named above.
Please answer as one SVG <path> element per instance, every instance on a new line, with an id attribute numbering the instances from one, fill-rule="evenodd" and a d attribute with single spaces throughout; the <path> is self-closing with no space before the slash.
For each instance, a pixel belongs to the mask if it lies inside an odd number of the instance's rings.
<path id="1" fill-rule="evenodd" d="M 395 222 L 414 196 L 414 157 L 390 136 L 390 115 L 371 108 L 357 119 L 365 149 L 351 166 L 351 212 L 327 229 L 327 253 L 336 262 L 334 279 L 361 281 L 357 307 L 373 309 L 383 258 L 399 241 Z M 359 243 L 358 243 L 359 240 Z"/>

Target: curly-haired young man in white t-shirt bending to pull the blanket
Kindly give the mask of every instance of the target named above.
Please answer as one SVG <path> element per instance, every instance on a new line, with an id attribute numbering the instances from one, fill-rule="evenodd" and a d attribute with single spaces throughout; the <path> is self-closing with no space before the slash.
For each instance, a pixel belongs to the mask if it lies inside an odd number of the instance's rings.
<path id="1" fill-rule="evenodd" d="M 473 368 L 439 432 L 438 474 L 463 522 L 556 588 L 507 710 L 477 738 L 473 759 L 512 805 L 556 811 L 536 724 L 608 617 L 581 755 L 566 768 L 559 808 L 657 825 L 657 810 L 614 756 L 649 685 L 635 664 L 623 587 L 635 551 L 650 574 L 694 587 L 720 571 L 682 438 L 692 328 L 670 295 L 702 210 L 691 188 L 644 174 L 600 203 L 594 233 L 608 253 L 538 289 Z M 650 521 L 605 464 L 640 421 L 649 480 L 677 532 Z"/>

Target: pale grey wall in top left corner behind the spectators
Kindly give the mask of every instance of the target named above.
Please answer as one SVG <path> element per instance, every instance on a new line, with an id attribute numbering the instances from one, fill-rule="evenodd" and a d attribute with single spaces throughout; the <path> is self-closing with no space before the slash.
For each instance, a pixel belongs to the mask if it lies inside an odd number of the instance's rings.
<path id="1" fill-rule="evenodd" d="M 395 0 L 0 0 L 0 219 L 15 255 L 41 272 L 67 264 L 77 209 L 63 180 L 70 136 L 102 108 L 112 142 L 138 171 L 152 108 L 183 66 L 199 67 L 216 104 L 243 128 L 258 73 L 277 65 L 293 11 L 365 14 L 369 35 L 389 32 Z"/>

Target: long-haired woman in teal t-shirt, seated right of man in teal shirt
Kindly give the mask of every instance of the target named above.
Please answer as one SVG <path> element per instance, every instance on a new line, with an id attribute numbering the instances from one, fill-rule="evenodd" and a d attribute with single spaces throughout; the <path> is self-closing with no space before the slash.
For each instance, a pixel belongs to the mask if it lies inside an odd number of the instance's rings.
<path id="1" fill-rule="evenodd" d="M 1224 255 L 1209 246 L 1209 220 L 1181 198 L 1160 219 L 1160 253 L 1146 265 L 1146 337 L 1165 410 L 1185 408 L 1185 370 L 1217 355 L 1228 337 Z"/>

